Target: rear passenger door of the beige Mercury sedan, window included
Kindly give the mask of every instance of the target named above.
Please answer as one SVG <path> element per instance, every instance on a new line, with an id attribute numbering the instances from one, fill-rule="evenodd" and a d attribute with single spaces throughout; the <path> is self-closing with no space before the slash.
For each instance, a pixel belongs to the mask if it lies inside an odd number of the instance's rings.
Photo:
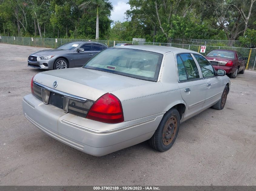
<path id="1" fill-rule="evenodd" d="M 178 54 L 176 59 L 178 86 L 180 87 L 181 97 L 187 104 L 187 111 L 184 116 L 186 120 L 202 110 L 206 96 L 206 84 L 190 53 Z"/>

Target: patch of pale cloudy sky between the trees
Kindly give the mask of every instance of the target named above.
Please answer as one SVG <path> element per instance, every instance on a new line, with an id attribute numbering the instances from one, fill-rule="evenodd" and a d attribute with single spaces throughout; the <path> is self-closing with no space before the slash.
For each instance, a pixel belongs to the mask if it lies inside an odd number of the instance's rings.
<path id="1" fill-rule="evenodd" d="M 126 4 L 128 0 L 110 0 L 114 6 L 114 11 L 111 11 L 110 19 L 115 21 L 126 21 L 125 11 L 130 9 L 130 5 Z"/>

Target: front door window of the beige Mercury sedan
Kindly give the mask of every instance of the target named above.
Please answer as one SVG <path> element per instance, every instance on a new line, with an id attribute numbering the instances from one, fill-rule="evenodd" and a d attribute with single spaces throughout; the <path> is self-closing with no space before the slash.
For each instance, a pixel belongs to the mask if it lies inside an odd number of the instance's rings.
<path id="1" fill-rule="evenodd" d="M 204 58 L 203 56 L 201 56 L 199 54 L 193 54 L 193 55 L 196 58 L 199 66 L 201 68 L 203 77 L 204 78 L 213 77 L 214 69 L 213 69 L 212 65 L 210 64 L 210 62 L 206 58 Z"/>

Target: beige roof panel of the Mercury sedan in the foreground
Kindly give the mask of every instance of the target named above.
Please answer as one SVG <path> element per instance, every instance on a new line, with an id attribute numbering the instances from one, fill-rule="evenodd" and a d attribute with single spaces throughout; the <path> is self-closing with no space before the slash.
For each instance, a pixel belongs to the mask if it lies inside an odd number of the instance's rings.
<path id="1" fill-rule="evenodd" d="M 170 46 L 157 46 L 157 45 L 127 45 L 127 46 L 114 46 L 111 48 L 127 48 L 127 49 L 137 49 L 137 50 L 145 50 L 160 54 L 165 54 L 169 52 L 177 53 L 197 53 L 192 50 L 183 49 L 183 48 L 175 48 Z"/>

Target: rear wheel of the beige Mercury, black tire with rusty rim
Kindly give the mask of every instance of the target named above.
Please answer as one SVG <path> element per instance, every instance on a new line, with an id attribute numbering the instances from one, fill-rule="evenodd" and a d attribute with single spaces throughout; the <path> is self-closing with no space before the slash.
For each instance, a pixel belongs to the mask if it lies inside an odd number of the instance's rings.
<path id="1" fill-rule="evenodd" d="M 149 144 L 157 151 L 163 152 L 171 148 L 177 138 L 180 127 L 180 114 L 176 109 L 165 113 Z"/>

